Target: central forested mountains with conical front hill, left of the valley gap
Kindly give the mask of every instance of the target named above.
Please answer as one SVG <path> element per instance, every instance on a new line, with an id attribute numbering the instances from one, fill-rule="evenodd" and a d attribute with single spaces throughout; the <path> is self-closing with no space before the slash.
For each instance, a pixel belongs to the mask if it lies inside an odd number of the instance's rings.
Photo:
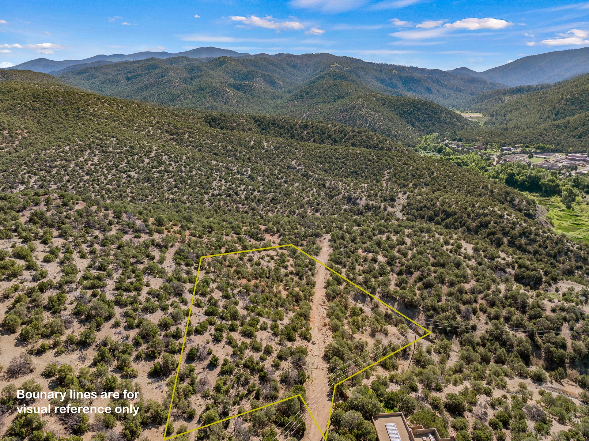
<path id="1" fill-rule="evenodd" d="M 329 54 L 148 59 L 85 67 L 59 78 L 100 94 L 168 107 L 335 121 L 411 145 L 423 134 L 472 125 L 431 101 L 456 106 L 499 87 Z"/>

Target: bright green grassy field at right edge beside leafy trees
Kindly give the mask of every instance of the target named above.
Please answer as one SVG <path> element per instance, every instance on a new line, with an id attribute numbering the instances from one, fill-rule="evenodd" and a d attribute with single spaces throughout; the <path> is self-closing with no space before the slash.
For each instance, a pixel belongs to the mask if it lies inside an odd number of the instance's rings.
<path id="1" fill-rule="evenodd" d="M 567 236 L 589 242 L 589 201 L 581 200 L 573 204 L 573 210 L 567 210 L 560 201 L 560 197 L 539 197 L 537 194 L 530 194 L 540 205 L 548 208 L 547 217 L 554 226 L 554 231 L 564 233 Z"/>

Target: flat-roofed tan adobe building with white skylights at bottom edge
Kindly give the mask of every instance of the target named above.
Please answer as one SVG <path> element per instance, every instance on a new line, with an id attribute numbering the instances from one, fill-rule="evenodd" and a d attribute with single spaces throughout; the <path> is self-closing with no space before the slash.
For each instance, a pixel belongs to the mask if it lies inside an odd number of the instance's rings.
<path id="1" fill-rule="evenodd" d="M 401 412 L 379 413 L 372 418 L 378 441 L 455 441 L 439 436 L 438 430 L 423 426 L 409 426 Z"/>

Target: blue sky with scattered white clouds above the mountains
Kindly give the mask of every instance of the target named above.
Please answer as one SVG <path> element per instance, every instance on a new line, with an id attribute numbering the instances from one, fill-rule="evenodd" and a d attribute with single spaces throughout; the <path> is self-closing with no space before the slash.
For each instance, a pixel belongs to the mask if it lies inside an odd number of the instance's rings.
<path id="1" fill-rule="evenodd" d="M 0 67 L 203 46 L 482 71 L 589 46 L 589 2 L 5 0 L 0 8 Z"/>

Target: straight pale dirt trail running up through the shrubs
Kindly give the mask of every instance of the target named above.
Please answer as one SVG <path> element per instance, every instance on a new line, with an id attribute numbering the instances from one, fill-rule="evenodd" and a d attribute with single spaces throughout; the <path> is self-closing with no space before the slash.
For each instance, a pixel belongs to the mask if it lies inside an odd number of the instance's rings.
<path id="1" fill-rule="evenodd" d="M 329 257 L 329 236 L 323 236 L 319 242 L 321 251 L 317 260 L 327 263 Z M 311 373 L 311 380 L 305 383 L 307 398 L 310 400 L 309 409 L 315 416 L 319 427 L 325 432 L 327 419 L 329 418 L 329 406 L 331 403 L 330 391 L 327 387 L 327 363 L 323 360 L 325 345 L 330 341 L 329 327 L 325 326 L 327 321 L 327 300 L 325 297 L 325 281 L 329 276 L 329 270 L 317 263 L 315 271 L 315 295 L 313 296 L 311 310 L 311 336 L 312 344 L 309 345 L 308 372 Z M 321 392 L 319 392 L 321 390 Z M 319 393 L 318 393 L 319 392 Z M 322 439 L 319 430 L 315 426 L 312 417 L 307 413 L 305 417 L 307 430 L 303 441 L 319 441 Z"/>

